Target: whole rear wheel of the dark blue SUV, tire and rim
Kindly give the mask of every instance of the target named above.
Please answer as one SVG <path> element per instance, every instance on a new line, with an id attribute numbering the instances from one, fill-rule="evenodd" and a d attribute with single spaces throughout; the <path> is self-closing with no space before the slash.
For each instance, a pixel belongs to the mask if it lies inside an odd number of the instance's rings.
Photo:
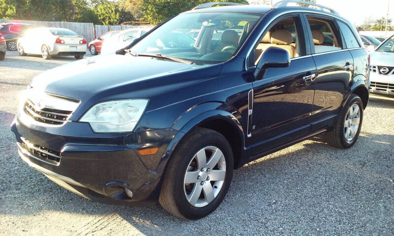
<path id="1" fill-rule="evenodd" d="M 356 94 L 350 95 L 333 130 L 325 134 L 328 144 L 335 148 L 352 147 L 360 134 L 363 111 L 361 98 Z"/>

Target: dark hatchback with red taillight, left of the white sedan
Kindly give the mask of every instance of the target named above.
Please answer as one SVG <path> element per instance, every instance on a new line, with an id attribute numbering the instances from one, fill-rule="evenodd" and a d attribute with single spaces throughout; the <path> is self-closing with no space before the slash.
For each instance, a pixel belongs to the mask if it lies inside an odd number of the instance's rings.
<path id="1" fill-rule="evenodd" d="M 26 30 L 32 29 L 35 26 L 20 23 L 3 23 L 0 24 L 0 34 L 3 35 L 7 49 L 9 51 L 16 51 L 18 38 L 23 36 Z"/>

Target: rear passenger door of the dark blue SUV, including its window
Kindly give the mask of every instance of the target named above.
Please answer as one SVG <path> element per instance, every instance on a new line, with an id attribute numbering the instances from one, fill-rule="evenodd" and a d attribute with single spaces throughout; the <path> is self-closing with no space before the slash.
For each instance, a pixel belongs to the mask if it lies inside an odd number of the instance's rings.
<path id="1" fill-rule="evenodd" d="M 331 126 L 337 118 L 344 94 L 354 77 L 354 62 L 346 49 L 337 22 L 332 17 L 305 14 L 312 57 L 317 68 L 312 109 L 312 132 Z"/>

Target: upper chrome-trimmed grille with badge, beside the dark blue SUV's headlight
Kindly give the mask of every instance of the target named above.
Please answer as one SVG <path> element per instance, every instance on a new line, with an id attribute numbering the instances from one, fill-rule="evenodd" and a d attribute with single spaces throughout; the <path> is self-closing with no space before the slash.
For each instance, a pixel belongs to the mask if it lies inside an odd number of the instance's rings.
<path id="1" fill-rule="evenodd" d="M 62 125 L 70 117 L 72 111 L 64 111 L 50 108 L 36 108 L 32 100 L 27 99 L 24 105 L 24 111 L 34 120 L 53 125 Z"/>

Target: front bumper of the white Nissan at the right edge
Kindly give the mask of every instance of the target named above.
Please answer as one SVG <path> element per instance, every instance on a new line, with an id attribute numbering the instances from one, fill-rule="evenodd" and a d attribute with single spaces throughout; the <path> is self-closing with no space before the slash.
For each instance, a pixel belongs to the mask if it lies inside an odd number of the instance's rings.
<path id="1" fill-rule="evenodd" d="M 394 95 L 394 74 L 381 75 L 370 73 L 371 86 L 370 92 Z"/>

